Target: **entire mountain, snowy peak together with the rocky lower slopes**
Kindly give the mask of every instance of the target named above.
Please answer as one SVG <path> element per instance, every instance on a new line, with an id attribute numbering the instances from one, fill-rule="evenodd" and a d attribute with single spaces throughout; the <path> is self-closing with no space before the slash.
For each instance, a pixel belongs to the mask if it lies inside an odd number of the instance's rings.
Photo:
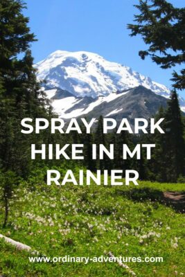
<path id="1" fill-rule="evenodd" d="M 150 118 L 170 96 L 163 84 L 95 53 L 55 51 L 35 67 L 60 118 Z M 185 100 L 179 103 L 185 111 Z"/>

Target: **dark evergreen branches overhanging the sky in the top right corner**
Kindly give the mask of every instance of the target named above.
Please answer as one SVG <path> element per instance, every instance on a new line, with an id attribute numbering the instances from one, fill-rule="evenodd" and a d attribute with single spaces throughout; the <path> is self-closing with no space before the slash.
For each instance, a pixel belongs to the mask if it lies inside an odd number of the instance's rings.
<path id="1" fill-rule="evenodd" d="M 150 55 L 162 69 L 185 62 L 185 8 L 175 8 L 166 0 L 139 0 L 134 5 L 139 15 L 134 15 L 137 24 L 128 24 L 131 36 L 141 35 L 149 45 L 147 51 L 139 51 L 142 59 Z M 185 88 L 185 69 L 173 73 L 174 87 Z"/>

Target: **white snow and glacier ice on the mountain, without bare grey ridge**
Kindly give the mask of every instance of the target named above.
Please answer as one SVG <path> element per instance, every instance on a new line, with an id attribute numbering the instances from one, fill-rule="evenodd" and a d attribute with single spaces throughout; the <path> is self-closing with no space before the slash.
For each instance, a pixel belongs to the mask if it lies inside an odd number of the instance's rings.
<path id="1" fill-rule="evenodd" d="M 102 105 L 107 107 L 110 101 L 124 97 L 130 89 L 139 86 L 164 98 L 170 96 L 170 90 L 164 84 L 87 51 L 55 51 L 35 67 L 37 78 L 46 80 L 46 96 L 52 100 L 54 111 L 62 118 L 87 115 Z M 185 100 L 179 97 L 179 103 L 185 111 Z M 114 107 L 107 115 L 121 112 L 121 107 Z"/>

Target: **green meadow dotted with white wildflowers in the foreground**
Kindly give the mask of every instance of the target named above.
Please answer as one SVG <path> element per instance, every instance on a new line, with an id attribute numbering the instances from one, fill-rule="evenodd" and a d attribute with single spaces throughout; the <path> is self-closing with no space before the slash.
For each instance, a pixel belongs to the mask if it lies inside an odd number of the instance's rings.
<path id="1" fill-rule="evenodd" d="M 127 262 L 135 276 L 184 273 L 183 208 L 164 192 L 185 192 L 185 184 L 140 181 L 139 186 L 46 186 L 38 170 L 23 182 L 11 203 L 3 235 L 42 256 L 159 257 L 164 262 Z M 3 206 L 0 206 L 3 222 Z M 29 262 L 30 253 L 0 239 L 0 276 L 132 276 L 117 262 Z"/>

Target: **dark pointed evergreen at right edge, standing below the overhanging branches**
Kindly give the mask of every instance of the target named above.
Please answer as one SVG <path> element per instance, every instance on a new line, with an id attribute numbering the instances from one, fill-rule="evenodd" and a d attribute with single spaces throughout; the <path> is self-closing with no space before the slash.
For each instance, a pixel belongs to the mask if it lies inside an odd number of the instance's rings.
<path id="1" fill-rule="evenodd" d="M 165 134 L 149 134 L 145 143 L 155 143 L 152 159 L 146 162 L 147 179 L 176 182 L 185 175 L 184 125 L 176 91 L 172 91 L 166 111 L 161 107 L 156 120 L 165 118 L 161 128 Z"/>

